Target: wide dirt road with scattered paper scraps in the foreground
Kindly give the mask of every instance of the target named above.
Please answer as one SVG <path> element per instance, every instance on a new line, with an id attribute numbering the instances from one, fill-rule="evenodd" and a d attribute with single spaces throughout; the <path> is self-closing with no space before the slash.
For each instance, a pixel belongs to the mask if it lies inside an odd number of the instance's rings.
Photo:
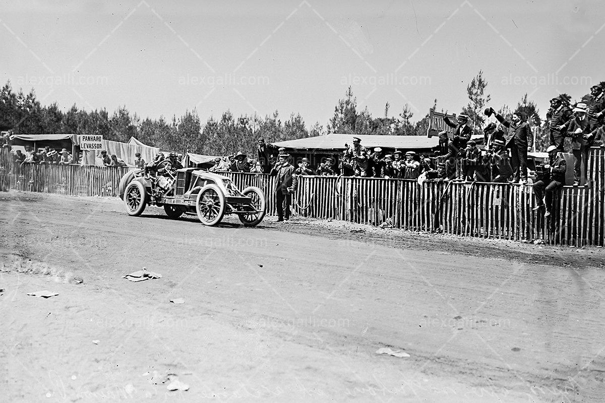
<path id="1" fill-rule="evenodd" d="M 209 228 L 32 193 L 0 195 L 0 211 L 0 401 L 605 396 L 601 249 L 270 218 Z M 163 277 L 122 279 L 143 266 Z M 27 295 L 43 289 L 59 295 Z M 169 392 L 175 379 L 189 390 Z"/>

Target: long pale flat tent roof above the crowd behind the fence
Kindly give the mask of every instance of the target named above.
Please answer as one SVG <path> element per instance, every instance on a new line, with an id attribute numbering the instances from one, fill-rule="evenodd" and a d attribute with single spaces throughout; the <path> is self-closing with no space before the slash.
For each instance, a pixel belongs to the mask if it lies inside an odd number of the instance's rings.
<path id="1" fill-rule="evenodd" d="M 430 149 L 439 144 L 438 137 L 425 136 L 380 136 L 380 135 L 353 135 L 353 134 L 327 134 L 324 136 L 299 138 L 297 140 L 280 141 L 273 143 L 278 147 L 287 149 L 329 149 L 344 150 L 344 144 L 353 144 L 353 137 L 359 137 L 361 145 L 368 148 L 384 147 L 389 149 Z"/>

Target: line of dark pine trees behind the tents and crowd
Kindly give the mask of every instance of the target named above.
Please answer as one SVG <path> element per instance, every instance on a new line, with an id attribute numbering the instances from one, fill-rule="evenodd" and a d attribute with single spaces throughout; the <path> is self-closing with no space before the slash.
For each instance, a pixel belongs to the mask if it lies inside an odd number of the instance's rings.
<path id="1" fill-rule="evenodd" d="M 483 72 L 479 71 L 466 88 L 468 104 L 462 113 L 469 116 L 476 134 L 481 133 L 485 123 L 483 109 L 491 100 L 490 95 L 486 94 L 487 85 Z M 564 95 L 571 102 L 571 97 Z M 433 108 L 437 109 L 437 100 L 434 100 Z M 268 143 L 275 143 L 326 133 L 427 135 L 428 114 L 412 123 L 413 112 L 407 103 L 396 117 L 390 117 L 388 102 L 381 117 L 373 117 L 367 106 L 359 109 L 352 88 L 348 87 L 344 98 L 338 100 L 325 129 L 319 122 L 307 129 L 300 114 L 291 114 L 286 120 L 281 120 L 278 111 L 264 117 L 258 114 L 235 117 L 226 111 L 220 118 L 211 116 L 202 125 L 195 109 L 168 120 L 163 116 L 142 119 L 125 106 L 120 106 L 111 115 L 105 108 L 86 111 L 75 104 L 64 112 L 56 102 L 41 105 L 33 89 L 28 94 L 24 94 L 22 89 L 15 92 L 8 81 L 0 92 L 0 129 L 10 129 L 15 134 L 103 135 L 106 140 L 123 142 L 132 136 L 163 150 L 206 155 L 229 155 L 238 151 L 250 153 L 255 150 L 259 137 Z M 532 125 L 537 137 L 536 149 L 545 150 L 549 141 L 548 127 L 541 120 L 535 103 L 528 100 L 525 94 L 515 110 L 523 111 Z M 506 116 L 513 111 L 503 105 L 499 112 Z"/>

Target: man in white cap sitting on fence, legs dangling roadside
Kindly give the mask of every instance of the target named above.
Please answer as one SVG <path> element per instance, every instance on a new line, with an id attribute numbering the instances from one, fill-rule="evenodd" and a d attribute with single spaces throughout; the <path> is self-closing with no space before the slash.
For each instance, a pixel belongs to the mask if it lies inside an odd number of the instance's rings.
<path id="1" fill-rule="evenodd" d="M 565 158 L 558 152 L 557 146 L 549 146 L 546 150 L 548 152 L 548 163 L 545 164 L 544 169 L 546 177 L 538 178 L 540 180 L 534 183 L 534 194 L 536 207 L 534 211 L 540 210 L 545 207 L 543 201 L 544 193 L 546 193 L 546 212 L 545 217 L 551 215 L 552 211 L 552 195 L 555 190 L 559 189 L 565 184 L 565 172 L 567 170 L 567 164 Z M 548 185 L 546 185 L 548 183 Z"/>

